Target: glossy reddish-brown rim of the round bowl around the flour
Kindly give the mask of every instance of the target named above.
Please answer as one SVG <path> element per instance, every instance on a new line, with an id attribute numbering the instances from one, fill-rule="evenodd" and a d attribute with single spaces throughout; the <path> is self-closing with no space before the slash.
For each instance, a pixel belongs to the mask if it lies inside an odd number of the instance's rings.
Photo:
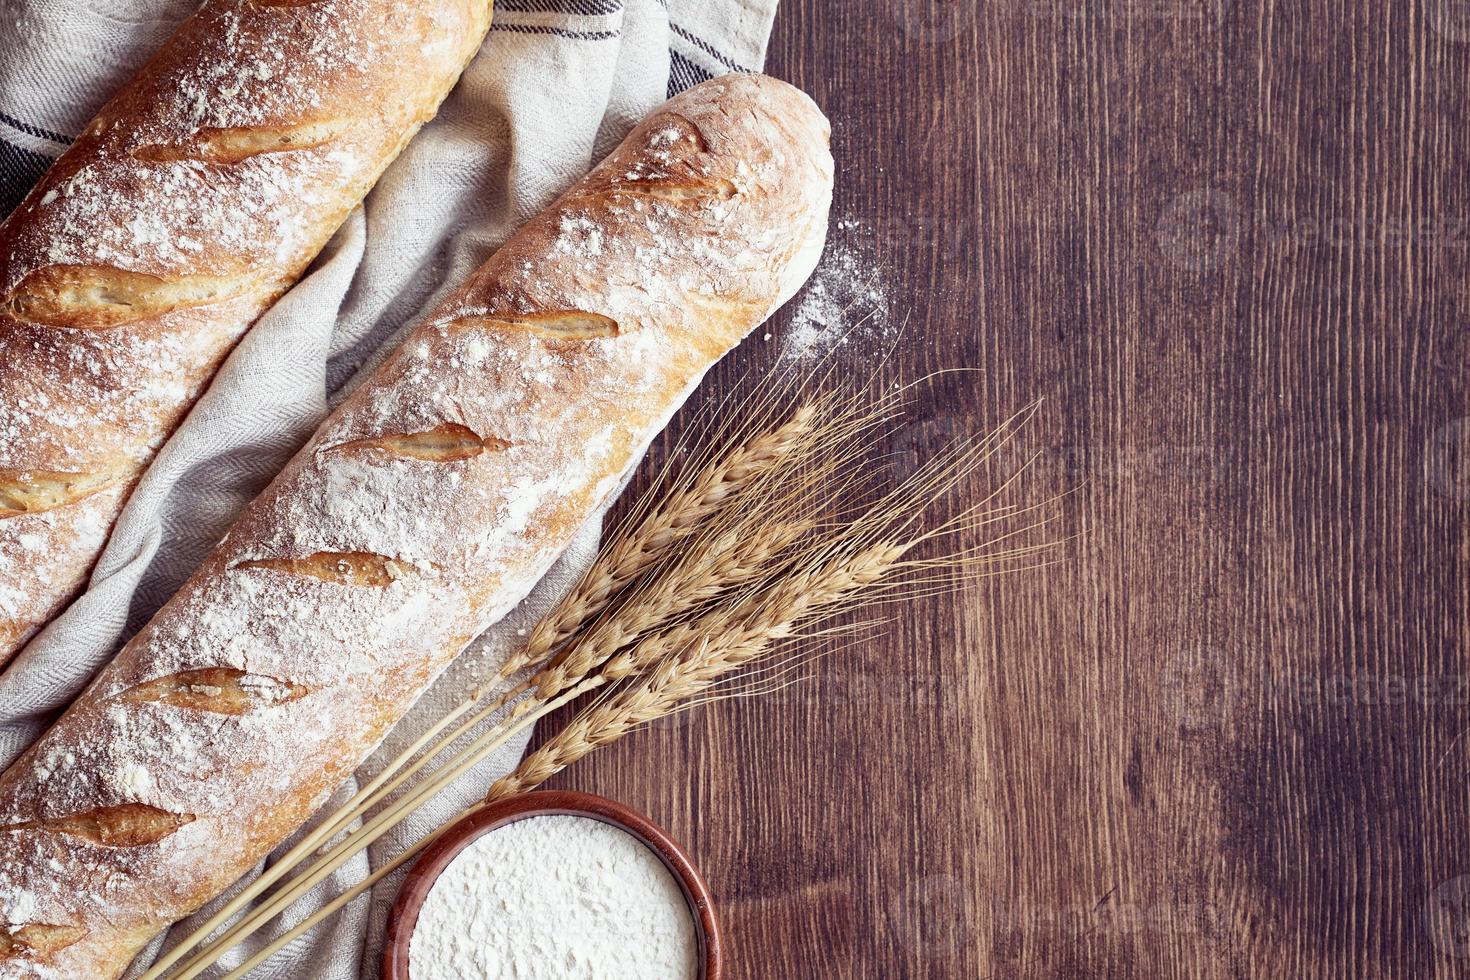
<path id="1" fill-rule="evenodd" d="M 650 823 L 647 817 L 622 804 L 591 793 L 553 790 L 513 796 L 466 817 L 419 855 L 398 889 L 398 898 L 394 899 L 392 914 L 388 918 L 388 934 L 382 951 L 382 980 L 410 980 L 409 940 L 419 921 L 419 909 L 423 908 L 423 899 L 429 896 L 429 889 L 434 887 L 450 861 L 459 857 L 460 851 L 495 827 L 526 817 L 557 814 L 591 817 L 610 823 L 642 840 L 663 858 L 664 865 L 684 889 L 684 896 L 689 901 L 689 909 L 694 912 L 694 932 L 700 940 L 700 980 L 720 980 L 720 924 L 714 915 L 714 904 L 710 901 L 710 889 L 679 845 Z"/>

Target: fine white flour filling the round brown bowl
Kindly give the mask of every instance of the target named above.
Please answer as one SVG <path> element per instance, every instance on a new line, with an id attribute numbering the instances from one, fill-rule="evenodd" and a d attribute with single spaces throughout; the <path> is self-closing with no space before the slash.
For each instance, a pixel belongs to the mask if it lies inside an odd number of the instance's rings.
<path id="1" fill-rule="evenodd" d="M 657 854 L 588 817 L 528 817 L 440 874 L 412 980 L 694 980 L 694 914 Z"/>

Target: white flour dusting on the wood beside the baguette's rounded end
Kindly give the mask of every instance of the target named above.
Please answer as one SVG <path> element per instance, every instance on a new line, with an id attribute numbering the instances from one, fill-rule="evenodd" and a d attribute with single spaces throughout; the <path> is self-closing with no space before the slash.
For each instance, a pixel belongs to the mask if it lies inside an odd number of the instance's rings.
<path id="1" fill-rule="evenodd" d="M 826 254 L 782 331 L 782 361 L 817 361 L 839 348 L 879 353 L 897 339 L 873 228 L 844 217 L 832 229 Z"/>

